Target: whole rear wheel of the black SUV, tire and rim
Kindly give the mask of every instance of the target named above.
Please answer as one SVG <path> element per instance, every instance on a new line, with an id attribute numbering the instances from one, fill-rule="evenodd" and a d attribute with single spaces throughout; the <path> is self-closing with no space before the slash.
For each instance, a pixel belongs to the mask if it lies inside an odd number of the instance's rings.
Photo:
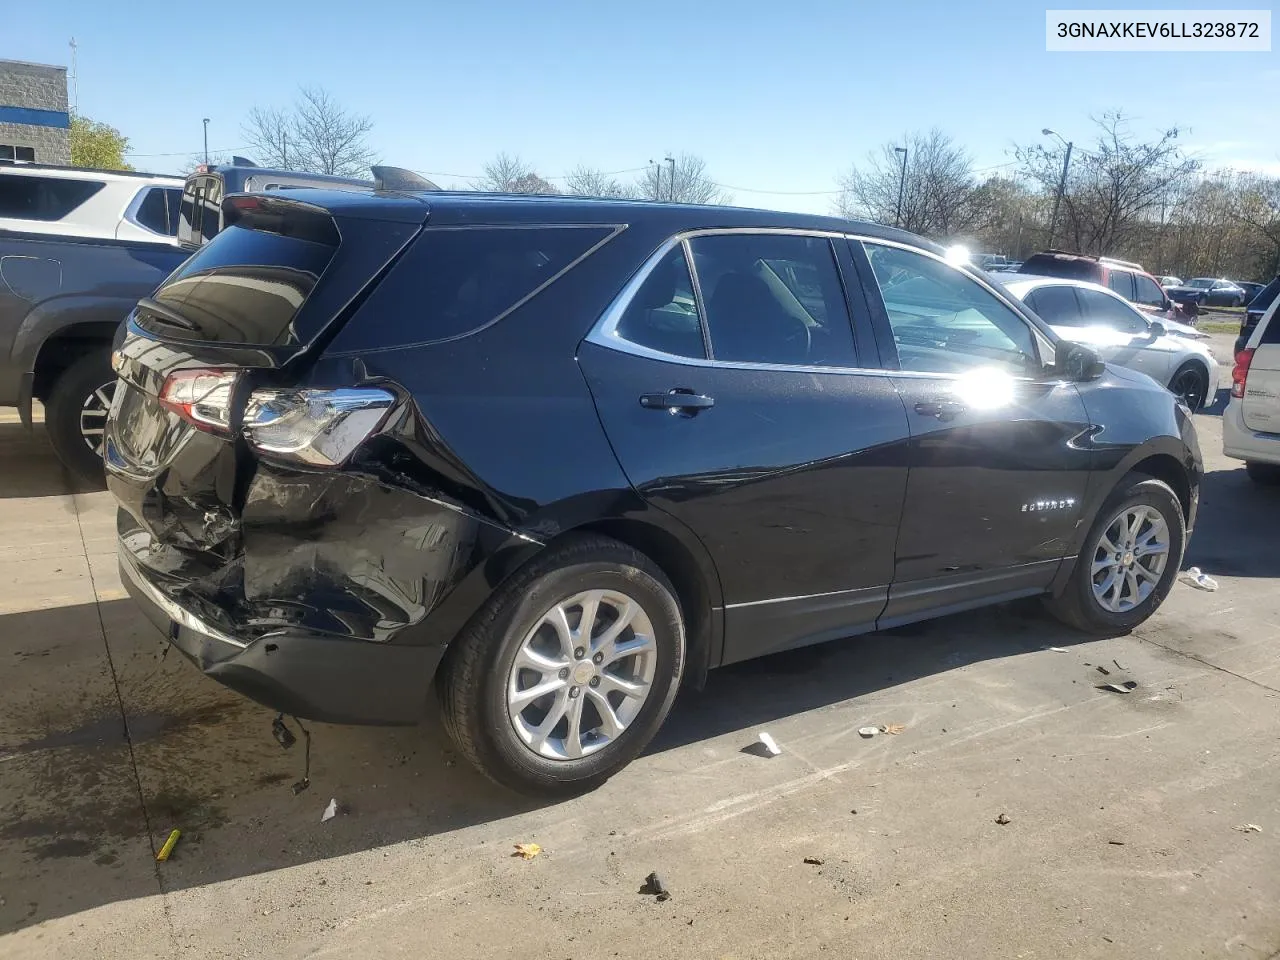
<path id="1" fill-rule="evenodd" d="M 521 794 L 594 790 L 634 760 L 680 686 L 685 627 L 644 554 L 575 536 L 503 585 L 451 646 L 436 681 L 445 730 L 486 777 Z"/>

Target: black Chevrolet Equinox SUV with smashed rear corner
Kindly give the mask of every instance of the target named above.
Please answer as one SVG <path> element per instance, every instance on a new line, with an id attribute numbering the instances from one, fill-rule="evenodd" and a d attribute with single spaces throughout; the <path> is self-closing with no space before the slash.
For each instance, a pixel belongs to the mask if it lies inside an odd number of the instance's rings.
<path id="1" fill-rule="evenodd" d="M 710 667 L 1011 598 L 1151 616 L 1189 415 L 906 233 L 256 193 L 143 300 L 106 436 L 129 591 L 280 712 L 603 782 Z"/>

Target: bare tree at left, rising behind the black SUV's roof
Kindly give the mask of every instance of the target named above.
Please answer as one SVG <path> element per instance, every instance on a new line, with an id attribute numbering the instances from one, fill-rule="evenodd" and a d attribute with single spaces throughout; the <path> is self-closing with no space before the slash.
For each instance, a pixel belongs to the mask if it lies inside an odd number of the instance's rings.
<path id="1" fill-rule="evenodd" d="M 253 108 L 243 134 L 257 163 L 285 170 L 367 177 L 374 122 L 343 109 L 320 87 L 302 87 L 289 109 Z"/>

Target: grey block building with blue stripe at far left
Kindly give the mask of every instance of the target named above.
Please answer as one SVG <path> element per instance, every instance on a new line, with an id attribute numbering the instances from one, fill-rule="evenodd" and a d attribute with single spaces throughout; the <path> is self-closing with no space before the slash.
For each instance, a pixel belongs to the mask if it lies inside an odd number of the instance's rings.
<path id="1" fill-rule="evenodd" d="M 0 163 L 72 161 L 67 68 L 0 60 Z"/>

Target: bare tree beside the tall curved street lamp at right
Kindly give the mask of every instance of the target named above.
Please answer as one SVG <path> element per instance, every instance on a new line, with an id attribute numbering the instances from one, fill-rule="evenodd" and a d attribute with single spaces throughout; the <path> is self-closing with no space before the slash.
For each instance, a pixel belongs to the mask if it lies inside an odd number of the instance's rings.
<path id="1" fill-rule="evenodd" d="M 1140 142 L 1123 113 L 1094 118 L 1098 136 L 1071 155 L 1059 212 L 1060 236 L 1084 253 L 1112 253 L 1143 232 L 1171 192 L 1189 180 L 1199 163 L 1183 154 L 1178 128 Z M 1055 193 L 1065 147 L 1042 143 L 1015 150 L 1021 174 Z"/>

